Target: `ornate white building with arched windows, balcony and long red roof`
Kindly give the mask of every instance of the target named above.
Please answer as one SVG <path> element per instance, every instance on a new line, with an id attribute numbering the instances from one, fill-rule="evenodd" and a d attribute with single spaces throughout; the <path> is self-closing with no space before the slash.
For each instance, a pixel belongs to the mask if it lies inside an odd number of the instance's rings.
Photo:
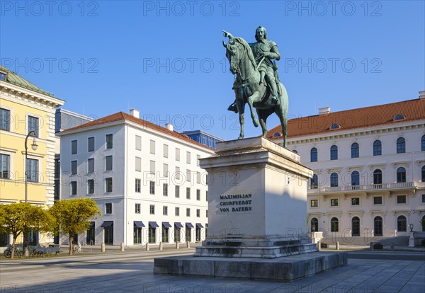
<path id="1" fill-rule="evenodd" d="M 419 99 L 288 121 L 288 149 L 314 170 L 309 231 L 407 236 L 425 219 L 425 92 Z M 271 139 L 281 142 L 280 127 Z M 369 238 L 368 238 L 369 237 Z M 367 240 L 369 239 L 369 240 Z"/>

